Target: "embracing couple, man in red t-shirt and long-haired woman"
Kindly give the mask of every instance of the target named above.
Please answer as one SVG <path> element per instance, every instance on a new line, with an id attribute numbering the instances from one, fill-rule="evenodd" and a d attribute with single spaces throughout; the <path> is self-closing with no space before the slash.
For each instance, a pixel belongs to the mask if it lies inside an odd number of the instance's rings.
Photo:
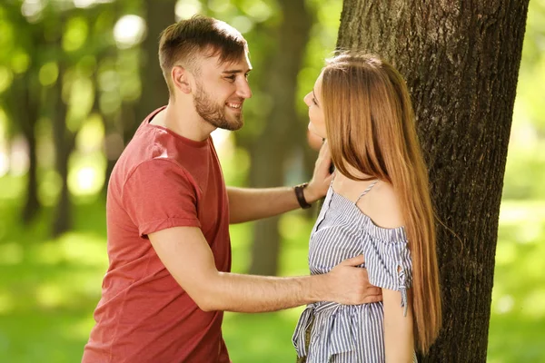
<path id="1" fill-rule="evenodd" d="M 304 98 L 310 131 L 328 140 L 312 181 L 252 190 L 225 187 L 210 137 L 243 126 L 252 96 L 243 36 L 195 16 L 163 31 L 159 58 L 170 99 L 144 120 L 109 181 L 110 265 L 83 362 L 228 363 L 224 310 L 305 304 L 293 334 L 302 361 L 410 362 L 425 352 L 441 321 L 435 237 L 400 74 L 374 56 L 333 57 Z M 230 273 L 229 223 L 323 196 L 311 276 Z"/>

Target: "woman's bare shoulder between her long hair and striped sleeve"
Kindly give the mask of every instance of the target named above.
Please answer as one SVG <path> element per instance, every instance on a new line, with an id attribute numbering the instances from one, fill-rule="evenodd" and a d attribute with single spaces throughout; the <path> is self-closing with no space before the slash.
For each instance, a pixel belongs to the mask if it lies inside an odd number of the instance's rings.
<path id="1" fill-rule="evenodd" d="M 404 225 L 399 198 L 388 182 L 378 182 L 362 197 L 358 207 L 382 228 Z"/>

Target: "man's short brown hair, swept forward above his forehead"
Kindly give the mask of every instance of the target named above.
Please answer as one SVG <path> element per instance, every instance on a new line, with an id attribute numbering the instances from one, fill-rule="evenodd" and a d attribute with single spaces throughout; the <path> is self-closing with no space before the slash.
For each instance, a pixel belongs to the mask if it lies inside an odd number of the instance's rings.
<path id="1" fill-rule="evenodd" d="M 159 41 L 159 64 L 172 94 L 170 73 L 174 65 L 198 73 L 200 55 L 219 55 L 221 63 L 231 63 L 241 59 L 247 50 L 246 40 L 233 26 L 208 16 L 194 15 L 163 30 Z"/>

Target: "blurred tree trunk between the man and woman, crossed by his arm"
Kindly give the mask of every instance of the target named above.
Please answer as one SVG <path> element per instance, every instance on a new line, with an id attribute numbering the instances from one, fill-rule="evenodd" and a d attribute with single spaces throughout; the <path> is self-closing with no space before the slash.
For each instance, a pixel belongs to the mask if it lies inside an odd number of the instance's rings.
<path id="1" fill-rule="evenodd" d="M 285 163 L 293 146 L 304 140 L 302 127 L 297 127 L 295 111 L 297 74 L 301 69 L 304 50 L 312 26 L 312 15 L 303 0 L 282 0 L 283 22 L 279 25 L 278 48 L 264 64 L 263 91 L 271 95 L 272 112 L 264 131 L 251 149 L 250 182 L 254 187 L 282 185 Z M 299 131 L 299 132 L 298 132 Z M 278 217 L 257 221 L 253 230 L 250 273 L 275 275 L 278 271 L 280 236 Z"/>

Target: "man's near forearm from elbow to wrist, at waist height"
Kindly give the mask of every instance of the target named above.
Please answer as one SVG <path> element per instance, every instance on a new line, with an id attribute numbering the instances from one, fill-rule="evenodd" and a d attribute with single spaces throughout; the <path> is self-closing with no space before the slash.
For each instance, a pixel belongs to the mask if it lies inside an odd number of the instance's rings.
<path id="1" fill-rule="evenodd" d="M 203 310 L 265 312 L 331 298 L 328 276 L 277 278 L 218 272 L 200 294 Z"/>

